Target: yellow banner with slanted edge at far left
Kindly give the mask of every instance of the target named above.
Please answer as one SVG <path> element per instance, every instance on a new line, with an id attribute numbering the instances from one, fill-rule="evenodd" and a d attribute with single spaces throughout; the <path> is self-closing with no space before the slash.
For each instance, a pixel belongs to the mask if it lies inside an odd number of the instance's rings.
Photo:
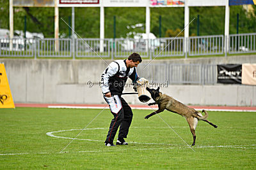
<path id="1" fill-rule="evenodd" d="M 15 108 L 4 64 L 0 64 L 0 108 Z"/>

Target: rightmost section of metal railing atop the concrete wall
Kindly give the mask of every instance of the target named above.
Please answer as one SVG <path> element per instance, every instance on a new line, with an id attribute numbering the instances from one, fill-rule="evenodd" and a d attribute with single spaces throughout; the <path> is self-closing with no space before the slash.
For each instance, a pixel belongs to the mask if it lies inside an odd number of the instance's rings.
<path id="1" fill-rule="evenodd" d="M 255 36 L 253 34 L 230 34 L 229 36 L 229 53 L 252 53 L 256 52 Z"/>

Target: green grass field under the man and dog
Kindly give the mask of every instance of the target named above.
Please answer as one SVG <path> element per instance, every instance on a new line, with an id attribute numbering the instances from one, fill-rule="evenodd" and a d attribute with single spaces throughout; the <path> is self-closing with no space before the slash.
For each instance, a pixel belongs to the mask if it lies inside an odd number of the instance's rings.
<path id="1" fill-rule="evenodd" d="M 193 142 L 188 123 L 168 111 L 160 116 L 182 139 L 157 115 L 145 120 L 150 110 L 133 110 L 129 145 L 106 147 L 113 116 L 108 108 L 100 111 L 2 109 L 0 169 L 255 169 L 256 113 L 209 111 L 209 121 L 218 128 L 198 122 L 193 152 L 182 141 Z M 86 125 L 66 153 L 60 153 L 71 141 L 67 138 Z"/>

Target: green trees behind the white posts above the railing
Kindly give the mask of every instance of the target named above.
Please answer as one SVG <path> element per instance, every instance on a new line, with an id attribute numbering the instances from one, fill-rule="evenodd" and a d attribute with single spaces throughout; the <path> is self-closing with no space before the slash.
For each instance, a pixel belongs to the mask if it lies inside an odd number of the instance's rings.
<path id="1" fill-rule="evenodd" d="M 0 27 L 9 29 L 9 1 L 0 0 Z M 225 7 L 190 7 L 190 21 L 200 15 L 200 35 L 224 34 Z M 256 32 L 256 7 L 252 11 L 243 6 L 230 6 L 230 34 L 236 33 L 236 16 L 239 13 L 239 33 Z M 145 32 L 145 8 L 104 8 L 105 38 L 113 38 L 113 16 L 116 16 L 116 38 L 125 38 L 131 31 Z M 76 8 L 76 32 L 82 38 L 100 37 L 100 9 Z M 68 17 L 71 8 L 59 8 L 60 35 L 68 37 Z M 14 8 L 14 30 L 24 29 L 24 15 L 27 15 L 27 30 L 43 32 L 45 37 L 54 37 L 54 8 Z M 159 36 L 159 15 L 162 18 L 161 32 L 173 36 L 172 31 L 184 29 L 184 8 L 150 8 L 150 32 Z M 65 22 L 63 22 L 63 20 Z M 143 24 L 143 27 L 129 29 L 127 26 Z M 196 19 L 189 25 L 189 35 L 197 32 Z"/>

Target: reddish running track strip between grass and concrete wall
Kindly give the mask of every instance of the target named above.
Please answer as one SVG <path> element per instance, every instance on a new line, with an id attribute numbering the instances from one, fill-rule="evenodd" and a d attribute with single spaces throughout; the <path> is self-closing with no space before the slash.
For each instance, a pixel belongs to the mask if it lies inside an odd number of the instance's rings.
<path id="1" fill-rule="evenodd" d="M 130 104 L 132 109 L 140 110 L 157 110 L 157 105 L 147 106 L 146 104 L 136 105 Z M 28 108 L 77 108 L 77 109 L 108 109 L 107 104 L 36 104 L 36 103 L 15 103 L 15 107 Z M 253 111 L 256 112 L 256 107 L 237 107 L 237 106 L 189 106 L 195 110 L 209 110 L 209 111 Z"/>

